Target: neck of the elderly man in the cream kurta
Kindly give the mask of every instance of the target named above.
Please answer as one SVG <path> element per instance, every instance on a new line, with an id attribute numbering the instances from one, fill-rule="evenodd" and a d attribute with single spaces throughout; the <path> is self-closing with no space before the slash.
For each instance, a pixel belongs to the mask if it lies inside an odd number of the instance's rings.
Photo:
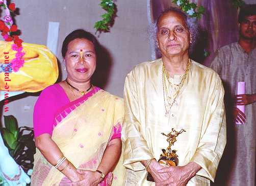
<path id="1" fill-rule="evenodd" d="M 174 56 L 174 57 L 162 57 L 163 63 L 168 74 L 173 77 L 174 74 L 184 74 L 187 64 L 189 62 L 189 56 Z"/>

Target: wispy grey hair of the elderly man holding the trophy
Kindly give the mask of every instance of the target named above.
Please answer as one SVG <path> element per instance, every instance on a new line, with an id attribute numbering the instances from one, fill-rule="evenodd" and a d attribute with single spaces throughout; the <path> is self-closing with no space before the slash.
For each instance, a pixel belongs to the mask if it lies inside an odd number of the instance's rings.
<path id="1" fill-rule="evenodd" d="M 170 7 L 167 10 L 163 11 L 159 15 L 159 17 L 157 19 L 157 22 L 155 22 L 154 24 L 149 25 L 148 33 L 149 33 L 150 39 L 153 42 L 155 42 L 155 44 L 157 44 L 157 32 L 158 32 L 159 19 L 160 19 L 160 17 L 162 17 L 164 14 L 166 14 L 168 12 L 178 13 L 184 18 L 184 20 L 186 22 L 186 26 L 188 27 L 189 33 L 191 34 L 191 37 L 192 37 L 192 43 L 189 46 L 189 53 L 191 54 L 193 52 L 193 49 L 194 49 L 195 44 L 196 44 L 196 40 L 197 40 L 198 33 L 199 33 L 199 26 L 198 26 L 196 17 L 190 17 L 189 15 L 184 13 L 181 9 Z"/>

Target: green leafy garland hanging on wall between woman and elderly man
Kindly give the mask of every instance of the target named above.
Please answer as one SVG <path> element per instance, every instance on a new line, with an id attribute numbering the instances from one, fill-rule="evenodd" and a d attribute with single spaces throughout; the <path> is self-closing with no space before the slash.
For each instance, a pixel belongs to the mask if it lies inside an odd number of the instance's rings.
<path id="1" fill-rule="evenodd" d="M 102 20 L 95 22 L 94 28 L 96 31 L 109 32 L 110 26 L 115 17 L 115 3 L 113 0 L 102 0 L 99 4 L 101 8 L 107 11 L 107 13 L 101 15 Z"/>

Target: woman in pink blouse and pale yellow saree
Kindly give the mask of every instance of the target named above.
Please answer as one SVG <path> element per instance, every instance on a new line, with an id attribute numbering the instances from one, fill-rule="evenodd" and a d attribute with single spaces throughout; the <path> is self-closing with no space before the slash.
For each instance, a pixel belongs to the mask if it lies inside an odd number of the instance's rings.
<path id="1" fill-rule="evenodd" d="M 84 30 L 63 41 L 67 79 L 44 89 L 34 108 L 32 185 L 111 185 L 121 153 L 123 102 L 91 84 L 97 50 L 96 38 Z M 112 185 L 121 179 L 114 174 Z"/>

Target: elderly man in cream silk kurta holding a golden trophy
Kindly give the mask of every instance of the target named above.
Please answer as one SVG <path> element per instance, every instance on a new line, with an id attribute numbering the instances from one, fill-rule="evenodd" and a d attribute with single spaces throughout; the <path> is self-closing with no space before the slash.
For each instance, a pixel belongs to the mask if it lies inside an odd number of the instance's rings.
<path id="1" fill-rule="evenodd" d="M 196 31 L 181 10 L 163 12 L 156 24 L 162 58 L 125 79 L 124 185 L 214 181 L 226 143 L 224 90 L 217 73 L 189 58 Z"/>

